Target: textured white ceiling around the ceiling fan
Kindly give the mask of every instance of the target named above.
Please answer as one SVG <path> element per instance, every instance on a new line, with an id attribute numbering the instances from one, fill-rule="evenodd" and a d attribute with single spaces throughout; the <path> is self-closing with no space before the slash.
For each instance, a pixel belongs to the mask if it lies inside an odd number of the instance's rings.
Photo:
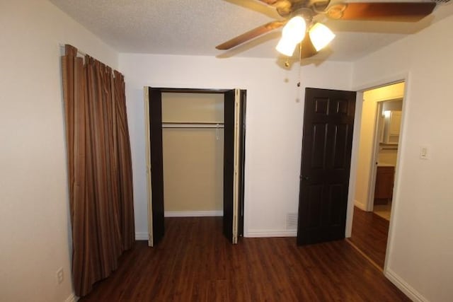
<path id="1" fill-rule="evenodd" d="M 273 7 L 256 0 L 50 1 L 118 52 L 217 57 L 279 56 L 275 45 L 281 34 L 280 29 L 233 50 L 215 49 L 216 45 L 236 35 L 281 19 Z M 326 50 L 314 58 L 352 62 L 452 13 L 453 5 L 438 5 L 431 16 L 418 23 L 326 21 L 337 36 Z"/>

